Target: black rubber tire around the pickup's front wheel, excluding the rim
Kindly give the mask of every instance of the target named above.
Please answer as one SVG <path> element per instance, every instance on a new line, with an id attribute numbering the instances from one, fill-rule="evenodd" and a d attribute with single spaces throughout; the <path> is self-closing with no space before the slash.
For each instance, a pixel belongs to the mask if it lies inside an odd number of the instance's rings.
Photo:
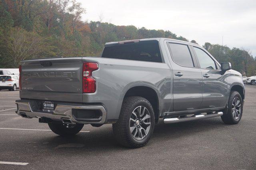
<path id="1" fill-rule="evenodd" d="M 241 111 L 240 111 L 240 115 L 237 119 L 234 118 L 234 115 L 232 114 L 232 103 L 235 97 L 238 97 L 241 101 Z M 237 92 L 237 91 L 231 91 L 230 92 L 230 96 L 228 99 L 228 109 L 225 109 L 223 111 L 223 115 L 221 116 L 222 121 L 225 124 L 229 124 L 229 125 L 234 125 L 239 123 L 239 121 L 242 118 L 242 113 L 243 113 L 243 100 L 241 95 Z"/>

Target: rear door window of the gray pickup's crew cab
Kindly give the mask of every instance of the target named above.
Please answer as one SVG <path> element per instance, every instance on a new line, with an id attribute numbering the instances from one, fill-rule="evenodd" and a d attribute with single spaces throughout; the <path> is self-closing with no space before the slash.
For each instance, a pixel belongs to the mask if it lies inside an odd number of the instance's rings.
<path id="1" fill-rule="evenodd" d="M 172 59 L 178 65 L 184 67 L 194 67 L 192 56 L 188 45 L 169 43 Z"/>

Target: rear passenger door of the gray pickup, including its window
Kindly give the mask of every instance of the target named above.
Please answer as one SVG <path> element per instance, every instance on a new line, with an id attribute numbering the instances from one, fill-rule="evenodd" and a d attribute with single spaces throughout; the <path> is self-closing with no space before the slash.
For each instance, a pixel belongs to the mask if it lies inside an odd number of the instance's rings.
<path id="1" fill-rule="evenodd" d="M 168 42 L 173 71 L 174 111 L 200 109 L 202 103 L 202 73 L 197 68 L 188 44 Z"/>

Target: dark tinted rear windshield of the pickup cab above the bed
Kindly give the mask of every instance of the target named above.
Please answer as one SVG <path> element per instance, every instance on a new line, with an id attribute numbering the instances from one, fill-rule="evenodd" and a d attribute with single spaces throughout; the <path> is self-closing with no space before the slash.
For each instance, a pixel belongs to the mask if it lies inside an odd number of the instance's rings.
<path id="1" fill-rule="evenodd" d="M 137 61 L 162 62 L 158 41 L 116 44 L 104 48 L 102 57 Z"/>

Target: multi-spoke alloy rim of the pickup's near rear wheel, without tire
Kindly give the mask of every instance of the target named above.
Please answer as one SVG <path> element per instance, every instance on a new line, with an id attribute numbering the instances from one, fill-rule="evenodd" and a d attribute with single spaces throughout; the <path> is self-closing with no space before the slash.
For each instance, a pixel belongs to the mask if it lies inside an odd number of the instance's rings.
<path id="1" fill-rule="evenodd" d="M 144 106 L 138 106 L 130 117 L 130 132 L 136 140 L 144 139 L 150 130 L 150 113 Z"/>

